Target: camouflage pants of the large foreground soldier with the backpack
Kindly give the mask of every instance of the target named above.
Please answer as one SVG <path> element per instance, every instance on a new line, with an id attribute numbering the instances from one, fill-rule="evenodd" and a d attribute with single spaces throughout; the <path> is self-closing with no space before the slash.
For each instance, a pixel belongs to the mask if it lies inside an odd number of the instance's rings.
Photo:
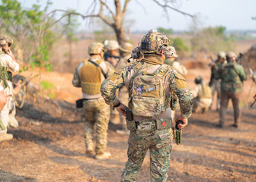
<path id="1" fill-rule="evenodd" d="M 131 131 L 128 140 L 128 161 L 123 170 L 122 181 L 136 181 L 139 168 L 142 166 L 148 149 L 151 181 L 166 181 L 171 158 L 172 136 L 171 129 L 155 130 L 149 133 Z"/>

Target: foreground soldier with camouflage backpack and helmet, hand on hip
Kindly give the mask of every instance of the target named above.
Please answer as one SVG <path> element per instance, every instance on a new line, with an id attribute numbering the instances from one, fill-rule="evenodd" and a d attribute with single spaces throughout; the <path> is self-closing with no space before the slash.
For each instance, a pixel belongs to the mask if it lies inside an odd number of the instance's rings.
<path id="1" fill-rule="evenodd" d="M 171 91 L 178 96 L 181 105 L 181 115 L 176 121 L 181 120 L 183 124 L 178 127 L 185 127 L 191 115 L 193 98 L 186 81 L 164 64 L 168 41 L 164 34 L 150 30 L 141 41 L 142 60 L 115 71 L 101 85 L 101 95 L 106 103 L 114 105 L 121 115 L 126 116 L 130 130 L 128 161 L 122 181 L 136 181 L 148 149 L 151 180 L 167 180 L 173 137 L 169 106 Z M 122 86 L 129 90 L 129 108 L 115 96 L 115 90 Z"/>

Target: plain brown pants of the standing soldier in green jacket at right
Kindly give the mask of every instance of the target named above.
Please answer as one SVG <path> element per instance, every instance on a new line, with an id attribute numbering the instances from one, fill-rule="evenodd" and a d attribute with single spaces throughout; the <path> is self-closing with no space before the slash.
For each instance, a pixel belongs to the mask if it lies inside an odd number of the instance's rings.
<path id="1" fill-rule="evenodd" d="M 221 93 L 221 105 L 219 111 L 219 124 L 224 126 L 226 121 L 226 110 L 229 104 L 229 99 L 232 100 L 232 105 L 234 109 L 234 123 L 238 125 L 241 121 L 242 111 L 240 108 L 240 97 L 242 96 L 242 92 L 228 92 L 222 91 Z"/>

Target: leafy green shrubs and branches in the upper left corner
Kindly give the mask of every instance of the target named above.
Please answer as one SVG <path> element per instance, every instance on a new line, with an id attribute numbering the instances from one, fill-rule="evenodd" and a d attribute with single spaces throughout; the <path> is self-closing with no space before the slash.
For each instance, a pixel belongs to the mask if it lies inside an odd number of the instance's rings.
<path id="1" fill-rule="evenodd" d="M 0 5 L 0 23 L 5 25 L 1 31 L 20 45 L 25 63 L 30 63 L 31 67 L 46 67 L 48 71 L 53 69 L 48 61 L 49 52 L 58 39 L 56 29 L 53 30 L 56 27 L 51 26 L 54 19 L 46 17 L 50 5 L 50 0 L 44 8 L 37 4 L 22 8 L 18 0 L 2 0 Z"/>

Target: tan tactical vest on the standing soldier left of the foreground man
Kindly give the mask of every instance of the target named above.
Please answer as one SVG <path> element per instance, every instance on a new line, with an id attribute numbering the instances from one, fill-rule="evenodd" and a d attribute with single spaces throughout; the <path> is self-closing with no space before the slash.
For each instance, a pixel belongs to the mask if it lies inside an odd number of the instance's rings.
<path id="1" fill-rule="evenodd" d="M 104 61 L 103 59 L 95 61 L 98 65 Z M 101 67 L 85 60 L 84 66 L 80 70 L 80 80 L 82 92 L 89 95 L 101 94 Z"/>

